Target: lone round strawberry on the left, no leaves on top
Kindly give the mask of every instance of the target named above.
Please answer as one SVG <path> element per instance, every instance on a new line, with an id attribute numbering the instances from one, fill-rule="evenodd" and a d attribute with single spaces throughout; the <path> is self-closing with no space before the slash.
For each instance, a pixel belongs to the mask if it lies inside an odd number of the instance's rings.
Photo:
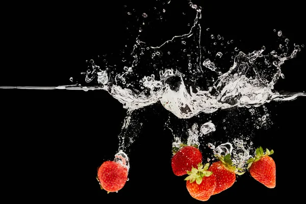
<path id="1" fill-rule="evenodd" d="M 123 188 L 127 180 L 127 168 L 114 161 L 104 162 L 98 169 L 97 180 L 101 189 L 116 192 Z"/>

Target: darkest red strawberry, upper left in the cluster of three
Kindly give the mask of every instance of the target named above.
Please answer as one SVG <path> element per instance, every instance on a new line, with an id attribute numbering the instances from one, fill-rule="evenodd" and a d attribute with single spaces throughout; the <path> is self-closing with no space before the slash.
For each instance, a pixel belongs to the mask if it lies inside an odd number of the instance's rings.
<path id="1" fill-rule="evenodd" d="M 174 151 L 174 150 L 173 150 Z M 194 146 L 183 146 L 171 159 L 172 171 L 175 175 L 185 175 L 202 162 L 202 153 Z"/>

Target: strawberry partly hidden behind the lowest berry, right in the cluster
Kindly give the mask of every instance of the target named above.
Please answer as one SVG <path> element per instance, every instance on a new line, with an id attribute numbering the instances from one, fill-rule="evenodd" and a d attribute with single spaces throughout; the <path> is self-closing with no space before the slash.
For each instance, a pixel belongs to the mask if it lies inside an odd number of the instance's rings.
<path id="1" fill-rule="evenodd" d="M 214 162 L 209 168 L 209 170 L 215 174 L 217 182 L 213 195 L 233 186 L 236 181 L 236 174 L 241 175 L 244 173 L 239 172 L 238 169 L 233 166 L 230 154 L 227 154 L 224 157 L 220 156 L 218 159 L 220 161 Z"/>

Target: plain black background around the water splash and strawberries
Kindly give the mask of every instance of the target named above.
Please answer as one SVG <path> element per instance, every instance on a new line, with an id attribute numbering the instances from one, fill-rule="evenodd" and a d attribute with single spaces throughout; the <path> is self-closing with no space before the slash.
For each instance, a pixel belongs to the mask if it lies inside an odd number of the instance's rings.
<path id="1" fill-rule="evenodd" d="M 85 60 L 100 53 L 115 52 L 125 43 L 124 36 L 118 37 L 125 29 L 123 5 L 143 13 L 154 2 L 8 5 L 12 12 L 4 18 L 3 42 L 9 46 L 2 60 L 0 85 L 69 84 L 71 75 L 85 70 Z M 210 28 L 228 39 L 241 40 L 241 49 L 251 51 L 274 42 L 273 29 L 282 30 L 293 42 L 305 42 L 301 5 L 195 3 L 203 7 L 202 28 Z M 180 13 L 184 10 L 182 6 L 188 7 L 187 1 L 175 4 L 172 0 L 169 10 L 173 8 Z M 192 23 L 193 18 L 189 16 L 188 22 Z M 171 32 L 188 31 L 184 27 L 187 19 L 182 21 L 184 18 L 179 15 L 179 22 L 173 23 L 175 18 L 172 16 L 172 19 L 169 23 L 165 21 L 164 27 L 152 36 L 166 38 L 173 36 Z M 285 63 L 286 79 L 278 81 L 277 91 L 306 90 L 304 56 L 302 49 L 297 58 Z M 160 104 L 139 113 L 143 128 L 129 148 L 130 181 L 118 193 L 107 194 L 99 189 L 95 176 L 97 167 L 113 160 L 118 150 L 117 136 L 125 110 L 117 100 L 104 91 L 1 89 L 0 92 L 2 170 L 5 171 L 2 186 L 5 194 L 12 193 L 11 201 L 200 202 L 188 194 L 183 177 L 174 176 L 171 171 L 173 136 L 164 123 L 169 115 L 173 116 Z M 296 163 L 303 158 L 305 101 L 299 97 L 267 104 L 273 124 L 253 132 L 254 146 L 275 150 L 276 187 L 268 189 L 245 174 L 232 188 L 212 196 L 208 203 L 293 201 L 303 196 L 297 185 L 304 178 Z M 237 109 L 222 110 L 201 118 L 212 118 L 220 124 L 211 137 L 226 141 L 233 136 L 228 131 L 242 128 L 247 116 L 247 110 L 242 110 L 242 113 Z M 228 125 L 231 128 L 227 132 L 222 130 L 223 118 L 235 121 Z M 179 123 L 191 124 L 194 120 Z"/>

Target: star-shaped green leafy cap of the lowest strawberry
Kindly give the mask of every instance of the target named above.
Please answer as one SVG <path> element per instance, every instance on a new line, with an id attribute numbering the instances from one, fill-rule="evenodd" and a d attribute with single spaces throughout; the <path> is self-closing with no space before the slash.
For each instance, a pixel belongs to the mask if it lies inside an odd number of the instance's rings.
<path id="1" fill-rule="evenodd" d="M 197 168 L 192 167 L 191 171 L 187 171 L 189 176 L 186 177 L 185 181 L 193 183 L 194 181 L 200 185 L 202 183 L 203 177 L 210 176 L 213 174 L 212 171 L 208 171 L 209 163 L 203 164 L 199 163 Z"/>

